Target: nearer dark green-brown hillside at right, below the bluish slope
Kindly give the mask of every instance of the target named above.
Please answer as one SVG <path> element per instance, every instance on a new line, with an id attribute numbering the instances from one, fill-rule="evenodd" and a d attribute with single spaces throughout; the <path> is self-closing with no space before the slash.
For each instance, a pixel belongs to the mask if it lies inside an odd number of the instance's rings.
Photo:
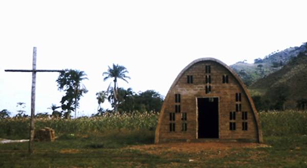
<path id="1" fill-rule="evenodd" d="M 307 107 L 307 50 L 287 62 L 280 70 L 259 79 L 249 87 L 258 108 Z"/>

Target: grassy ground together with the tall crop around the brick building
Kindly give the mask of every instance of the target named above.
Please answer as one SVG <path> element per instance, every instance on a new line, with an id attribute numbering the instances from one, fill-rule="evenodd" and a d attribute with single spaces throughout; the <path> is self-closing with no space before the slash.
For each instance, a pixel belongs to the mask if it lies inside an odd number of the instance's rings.
<path id="1" fill-rule="evenodd" d="M 307 112 L 260 113 L 266 145 L 152 145 L 157 117 L 135 114 L 53 122 L 41 119 L 37 128 L 55 128 L 57 140 L 35 142 L 31 156 L 28 143 L 0 145 L 0 167 L 307 167 Z M 0 121 L 0 137 L 27 137 L 23 127 L 28 128 L 27 120 Z"/>

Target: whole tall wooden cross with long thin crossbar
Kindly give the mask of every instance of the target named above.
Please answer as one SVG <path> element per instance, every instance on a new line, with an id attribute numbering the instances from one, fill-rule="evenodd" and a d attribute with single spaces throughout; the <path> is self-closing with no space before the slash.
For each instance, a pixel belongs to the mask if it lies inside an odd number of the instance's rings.
<path id="1" fill-rule="evenodd" d="M 6 69 L 7 72 L 32 72 L 32 90 L 31 90 L 31 123 L 30 123 L 30 140 L 29 140 L 29 153 L 33 153 L 33 139 L 34 139 L 34 116 L 35 116 L 35 84 L 37 72 L 58 72 L 61 73 L 64 70 L 45 70 L 36 69 L 36 47 L 33 47 L 33 63 L 32 69 Z"/>

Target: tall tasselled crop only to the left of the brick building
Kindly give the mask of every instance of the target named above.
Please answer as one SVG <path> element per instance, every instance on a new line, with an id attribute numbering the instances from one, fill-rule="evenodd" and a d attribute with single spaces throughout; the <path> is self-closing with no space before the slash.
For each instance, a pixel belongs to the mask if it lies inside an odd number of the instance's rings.
<path id="1" fill-rule="evenodd" d="M 53 128 L 61 134 L 87 134 L 89 132 L 109 132 L 112 130 L 154 130 L 158 122 L 158 113 L 103 113 L 97 117 L 37 118 L 35 129 Z M 0 137 L 28 138 L 30 118 L 5 118 L 0 121 Z"/>

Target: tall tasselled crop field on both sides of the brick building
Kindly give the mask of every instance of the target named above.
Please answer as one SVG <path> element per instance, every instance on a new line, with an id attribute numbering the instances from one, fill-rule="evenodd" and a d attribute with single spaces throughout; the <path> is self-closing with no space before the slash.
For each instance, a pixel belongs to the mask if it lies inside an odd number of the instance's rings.
<path id="1" fill-rule="evenodd" d="M 37 118 L 35 128 L 53 128 L 59 134 L 95 134 L 113 130 L 154 131 L 159 113 L 106 113 L 99 117 L 77 119 Z M 259 113 L 264 136 L 307 134 L 307 111 L 269 111 Z M 0 119 L 1 138 L 28 138 L 29 118 Z"/>

